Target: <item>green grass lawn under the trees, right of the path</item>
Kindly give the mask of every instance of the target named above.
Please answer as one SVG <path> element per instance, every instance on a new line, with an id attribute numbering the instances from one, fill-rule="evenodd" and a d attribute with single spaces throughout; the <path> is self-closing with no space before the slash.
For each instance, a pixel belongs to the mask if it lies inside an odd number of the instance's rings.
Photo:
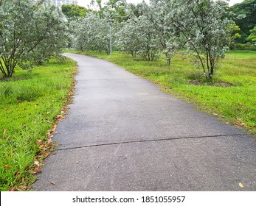
<path id="1" fill-rule="evenodd" d="M 212 83 L 204 82 L 201 70 L 194 68 L 189 57 L 179 54 L 169 68 L 163 59 L 145 62 L 120 52 L 114 52 L 113 57 L 94 51 L 68 52 L 109 60 L 194 103 L 199 110 L 256 134 L 256 51 L 229 51 Z"/>

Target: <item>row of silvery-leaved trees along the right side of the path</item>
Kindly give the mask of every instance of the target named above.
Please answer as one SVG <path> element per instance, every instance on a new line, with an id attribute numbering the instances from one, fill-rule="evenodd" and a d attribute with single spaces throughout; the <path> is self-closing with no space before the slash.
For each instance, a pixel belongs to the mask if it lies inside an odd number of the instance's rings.
<path id="1" fill-rule="evenodd" d="M 111 2 L 120 7 L 113 10 L 109 7 Z M 150 4 L 125 4 L 125 0 L 113 0 L 105 7 L 101 1 L 95 3 L 100 10 L 72 22 L 76 25 L 75 49 L 109 52 L 107 20 L 112 19 L 116 49 L 148 61 L 165 54 L 168 65 L 176 52 L 183 49 L 195 57 L 195 65 L 203 69 L 208 79 L 224 57 L 230 41 L 229 25 L 234 24 L 228 18 L 225 1 L 151 0 Z"/>

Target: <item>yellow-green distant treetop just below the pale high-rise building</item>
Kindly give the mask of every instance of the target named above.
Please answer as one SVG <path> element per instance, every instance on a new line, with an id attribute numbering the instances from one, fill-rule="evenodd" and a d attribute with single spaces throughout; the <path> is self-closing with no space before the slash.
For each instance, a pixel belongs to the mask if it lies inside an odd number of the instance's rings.
<path id="1" fill-rule="evenodd" d="M 61 10 L 66 18 L 82 18 L 86 17 L 86 14 L 89 13 L 89 10 L 85 7 L 75 4 L 63 4 Z"/>

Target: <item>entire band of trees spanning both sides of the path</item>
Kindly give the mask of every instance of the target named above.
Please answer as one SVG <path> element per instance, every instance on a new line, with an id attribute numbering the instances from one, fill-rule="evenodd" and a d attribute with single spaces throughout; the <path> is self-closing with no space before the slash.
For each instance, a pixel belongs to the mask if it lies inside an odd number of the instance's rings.
<path id="1" fill-rule="evenodd" d="M 67 40 L 77 50 L 109 53 L 111 26 L 115 50 L 148 61 L 164 54 L 167 65 L 177 51 L 187 51 L 211 79 L 230 44 L 249 42 L 255 48 L 255 8 L 255 0 L 233 7 L 213 0 L 92 0 L 88 8 L 63 5 L 61 12 L 47 0 L 0 0 L 1 74 L 12 77 L 16 65 L 44 63 L 60 54 Z"/>

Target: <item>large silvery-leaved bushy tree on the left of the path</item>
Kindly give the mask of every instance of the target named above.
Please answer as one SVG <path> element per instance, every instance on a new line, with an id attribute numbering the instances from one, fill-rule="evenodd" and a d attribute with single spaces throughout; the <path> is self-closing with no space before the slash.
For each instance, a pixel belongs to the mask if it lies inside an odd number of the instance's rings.
<path id="1" fill-rule="evenodd" d="M 16 65 L 28 68 L 60 54 L 66 43 L 63 15 L 46 1 L 1 1 L 0 70 L 13 76 Z"/>

